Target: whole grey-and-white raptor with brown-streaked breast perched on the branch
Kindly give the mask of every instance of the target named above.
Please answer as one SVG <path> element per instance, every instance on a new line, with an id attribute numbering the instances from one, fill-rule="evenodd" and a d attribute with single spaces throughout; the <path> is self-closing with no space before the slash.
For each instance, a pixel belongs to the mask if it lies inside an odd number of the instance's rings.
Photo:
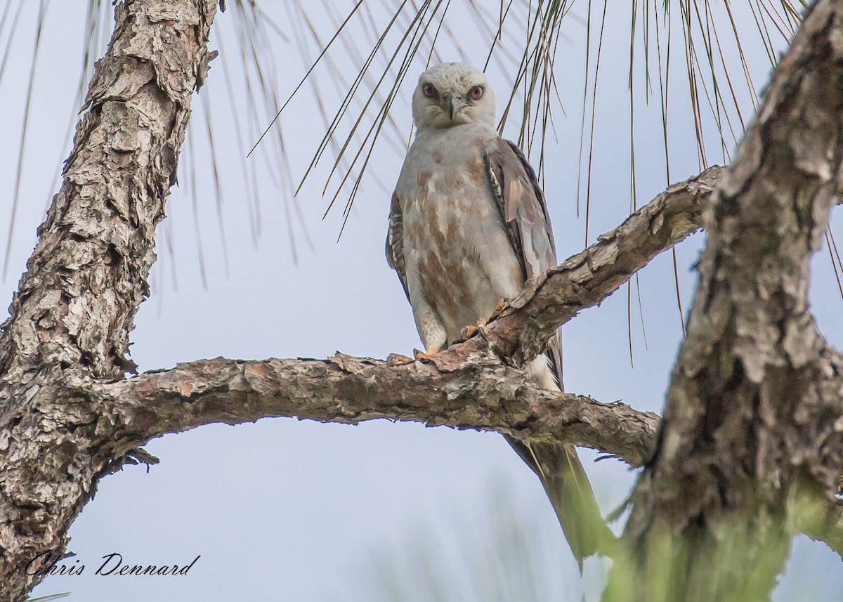
<path id="1" fill-rule="evenodd" d="M 502 299 L 556 265 L 545 197 L 524 153 L 497 135 L 486 75 L 462 62 L 421 74 L 413 94 L 416 137 L 389 211 L 386 258 L 398 272 L 424 343 L 421 357 L 459 341 Z M 417 357 L 418 357 L 417 355 Z M 526 367 L 561 390 L 558 335 Z M 611 538 L 571 445 L 508 438 L 539 476 L 577 562 Z"/>

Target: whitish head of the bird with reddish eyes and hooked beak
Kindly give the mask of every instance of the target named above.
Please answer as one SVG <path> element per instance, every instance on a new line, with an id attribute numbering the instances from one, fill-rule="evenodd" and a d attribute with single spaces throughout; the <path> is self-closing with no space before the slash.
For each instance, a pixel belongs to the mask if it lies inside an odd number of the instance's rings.
<path id="1" fill-rule="evenodd" d="M 465 123 L 494 128 L 495 93 L 486 74 L 464 62 L 430 67 L 413 93 L 413 121 L 420 132 Z"/>

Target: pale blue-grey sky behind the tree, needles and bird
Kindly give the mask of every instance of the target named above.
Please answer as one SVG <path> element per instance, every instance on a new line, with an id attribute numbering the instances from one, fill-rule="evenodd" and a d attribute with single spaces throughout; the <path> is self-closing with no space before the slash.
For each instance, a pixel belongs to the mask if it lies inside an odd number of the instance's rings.
<path id="1" fill-rule="evenodd" d="M 47 199 L 55 192 L 50 188 L 53 172 L 67 156 L 62 140 L 68 118 L 78 110 L 72 100 L 81 63 L 82 4 L 51 4 L 42 34 L 45 41 L 36 69 L 13 253 L 9 276 L 0 283 L 0 298 L 7 300 L 35 243 L 35 228 L 43 218 Z M 217 40 L 222 35 L 228 70 L 239 73 L 242 66 L 231 4 L 228 13 L 217 15 L 211 46 L 219 48 Z M 269 54 L 277 58 L 277 96 L 282 100 L 309 66 L 309 59 L 297 54 L 284 4 L 263 3 L 293 39 L 285 43 L 271 36 Z M 490 4 L 491 10 L 497 10 L 497 2 Z M 345 13 L 350 6 L 341 3 L 338 12 Z M 545 191 L 561 260 L 583 248 L 584 222 L 577 218 L 576 191 L 585 14 L 577 11 L 585 11 L 586 6 L 577 3 L 566 25 L 567 39 L 561 40 L 558 48 L 556 83 L 565 114 L 556 111 L 558 142 L 551 135 L 545 158 L 550 168 Z M 37 8 L 37 3 L 24 6 L 12 60 L 0 82 L 0 134 L 6 142 L 0 148 L 3 228 L 11 212 Z M 375 8 L 374 12 L 379 17 L 383 11 Z M 736 18 L 740 22 L 751 15 L 737 10 Z M 315 8 L 312 19 L 323 34 L 330 31 L 329 20 Z M 460 23 L 460 19 L 465 20 Z M 473 21 L 457 10 L 449 23 L 459 32 L 469 60 L 482 66 L 488 42 Z M 628 28 L 625 11 L 612 13 L 606 21 L 596 104 L 589 242 L 614 228 L 629 212 Z M 0 43 L 5 45 L 7 37 L 8 30 L 0 32 Z M 352 39 L 368 53 L 368 42 L 359 30 L 352 32 Z M 781 49 L 781 42 L 778 44 Z M 447 49 L 443 46 L 446 60 L 457 58 Z M 744 51 L 754 82 L 762 87 L 770 71 L 763 49 L 756 43 Z M 349 64 L 342 52 L 335 58 L 341 65 Z M 636 60 L 643 73 L 642 58 Z M 679 68 L 684 69 L 684 57 L 674 60 L 677 75 L 671 76 L 674 95 L 669 147 L 671 180 L 677 181 L 699 173 L 700 168 L 693 124 L 683 112 L 687 84 Z M 391 111 L 405 136 L 411 125 L 411 91 L 423 68 L 421 60 L 411 68 Z M 736 69 L 733 73 L 740 72 Z M 330 163 L 326 157 L 298 197 L 314 251 L 303 242 L 302 229 L 294 223 L 298 240 L 298 265 L 294 265 L 282 195 L 264 160 L 260 156 L 248 159 L 250 169 L 255 166 L 260 190 L 261 236 L 255 248 L 223 75 L 222 59 L 217 59 L 206 86 L 194 97 L 196 202 L 207 290 L 199 274 L 188 186 L 191 176 L 183 153 L 180 186 L 169 196 L 169 217 L 158 228 L 159 233 L 169 228 L 174 254 L 159 235 L 160 261 L 154 268 L 153 293 L 137 314 L 132 358 L 141 370 L 148 370 L 217 356 L 327 357 L 336 350 L 381 358 L 389 352 L 409 354 L 420 343 L 398 278 L 384 259 L 389 191 L 382 190 L 371 177 L 364 179 L 337 242 L 341 206 L 347 195 L 341 194 L 339 207 L 321 219 L 330 200 L 330 194 L 321 196 L 325 166 Z M 498 90 L 507 87 L 497 68 L 489 75 Z M 334 110 L 340 98 L 330 85 L 330 76 L 325 72 L 322 76 L 323 102 Z M 658 80 L 655 82 L 655 96 L 648 107 L 642 77 L 636 83 L 636 110 L 641 110 L 636 118 L 639 204 L 666 184 Z M 249 121 L 242 89 L 239 85 L 234 94 L 245 124 Z M 223 168 L 228 276 L 207 159 L 203 96 L 213 114 L 217 160 Z M 499 104 L 501 96 L 499 92 Z M 751 113 L 745 93 L 741 102 Z M 378 109 L 375 106 L 373 111 Z M 268 123 L 264 113 L 252 120 L 260 126 Z M 324 132 L 309 90 L 285 110 L 281 122 L 298 185 Z M 240 130 L 247 147 L 256 140 L 253 130 L 247 126 Z M 507 135 L 514 137 L 515 132 L 513 122 L 507 126 Z M 706 140 L 712 150 L 711 161 L 722 163 L 714 152 L 714 135 L 709 127 Z M 380 144 L 370 169 L 391 189 L 401 159 L 389 144 Z M 274 177 L 286 175 L 278 169 Z M 840 212 L 835 213 L 835 223 L 836 232 L 843 232 Z M 686 312 L 695 283 L 691 266 L 703 243 L 703 236 L 696 234 L 677 249 Z M 813 312 L 824 335 L 843 345 L 843 320 L 839 317 L 843 301 L 827 250 L 815 258 L 813 273 Z M 590 309 L 566 325 L 565 384 L 566 390 L 598 400 L 624 400 L 639 409 L 661 412 L 682 336 L 670 254 L 658 257 L 642 271 L 640 283 L 647 347 L 633 292 L 635 368 L 629 359 L 624 288 L 599 309 Z M 2 303 L 5 308 L 7 301 Z M 3 317 L 5 309 L 0 320 Z M 85 565 L 83 574 L 47 578 L 35 595 L 69 591 L 70 599 L 86 602 L 578 600 L 584 588 L 586 599 L 599 597 L 604 563 L 588 560 L 580 580 L 540 482 L 496 433 L 457 432 L 385 420 L 352 427 L 266 419 L 169 435 L 153 440 L 147 449 L 161 463 L 148 472 L 128 466 L 105 477 L 94 500 L 73 524 L 69 550 Z M 624 500 L 636 472 L 615 460 L 595 465 L 590 461 L 595 454 L 588 450 L 581 455 L 602 508 L 609 512 Z M 119 552 L 132 564 L 181 565 L 201 557 L 189 574 L 181 577 L 94 575 L 102 556 L 112 552 Z M 441 598 L 435 594 L 437 588 L 444 592 Z M 839 599 L 841 589 L 843 572 L 835 554 L 802 539 L 794 547 L 791 570 L 776 599 Z M 393 591 L 400 594 L 389 594 Z"/>

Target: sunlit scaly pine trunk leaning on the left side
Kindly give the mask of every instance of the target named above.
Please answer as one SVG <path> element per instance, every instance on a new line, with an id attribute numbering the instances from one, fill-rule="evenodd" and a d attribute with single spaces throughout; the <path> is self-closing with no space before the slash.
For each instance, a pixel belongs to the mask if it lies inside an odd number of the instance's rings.
<path id="1" fill-rule="evenodd" d="M 214 56 L 215 14 L 216 0 L 115 8 L 62 188 L 0 338 L 0 601 L 40 581 L 99 476 L 133 447 L 87 385 L 133 368 L 129 332 L 148 295 L 191 94 Z"/>

